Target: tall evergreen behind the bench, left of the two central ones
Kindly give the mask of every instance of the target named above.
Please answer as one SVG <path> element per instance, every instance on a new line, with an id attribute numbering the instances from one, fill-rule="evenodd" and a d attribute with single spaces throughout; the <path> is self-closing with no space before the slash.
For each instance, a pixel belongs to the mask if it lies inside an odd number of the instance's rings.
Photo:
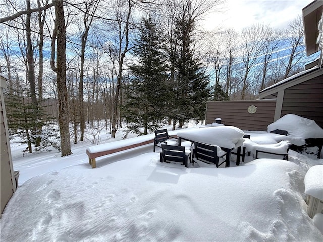
<path id="1" fill-rule="evenodd" d="M 131 65 L 131 80 L 126 88 L 127 103 L 123 106 L 128 130 L 147 134 L 159 128 L 165 114 L 165 56 L 161 51 L 161 31 L 151 17 L 143 18 L 139 39 L 132 54 L 137 64 Z M 141 129 L 143 128 L 143 131 Z"/>

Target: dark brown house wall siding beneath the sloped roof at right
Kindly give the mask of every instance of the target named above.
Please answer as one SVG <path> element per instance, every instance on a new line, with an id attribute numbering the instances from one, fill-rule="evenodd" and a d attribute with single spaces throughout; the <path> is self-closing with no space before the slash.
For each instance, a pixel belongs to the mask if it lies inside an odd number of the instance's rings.
<path id="1" fill-rule="evenodd" d="M 285 89 L 281 116 L 292 113 L 323 128 L 323 75 Z"/>

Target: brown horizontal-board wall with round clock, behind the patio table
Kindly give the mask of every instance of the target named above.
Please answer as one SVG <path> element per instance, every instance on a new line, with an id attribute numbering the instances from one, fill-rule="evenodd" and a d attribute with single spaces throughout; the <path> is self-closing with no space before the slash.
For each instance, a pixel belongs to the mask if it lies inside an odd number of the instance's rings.
<path id="1" fill-rule="evenodd" d="M 256 113 L 248 113 L 250 105 L 257 107 Z M 274 121 L 275 106 L 276 100 L 207 102 L 205 124 L 211 124 L 220 117 L 225 125 L 242 130 L 266 131 L 267 126 Z"/>

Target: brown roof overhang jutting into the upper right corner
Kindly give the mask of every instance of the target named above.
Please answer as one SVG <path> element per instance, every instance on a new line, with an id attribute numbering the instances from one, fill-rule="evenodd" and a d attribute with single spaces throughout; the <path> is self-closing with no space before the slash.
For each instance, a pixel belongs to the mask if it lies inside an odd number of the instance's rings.
<path id="1" fill-rule="evenodd" d="M 318 51 L 316 43 L 319 31 L 318 22 L 322 18 L 323 1 L 316 0 L 303 8 L 303 23 L 307 56 Z"/>

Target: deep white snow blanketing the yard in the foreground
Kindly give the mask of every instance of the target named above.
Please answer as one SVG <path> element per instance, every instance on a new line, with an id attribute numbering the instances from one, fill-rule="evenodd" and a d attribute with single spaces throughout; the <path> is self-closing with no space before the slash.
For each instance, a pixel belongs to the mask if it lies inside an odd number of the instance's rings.
<path id="1" fill-rule="evenodd" d="M 0 219 L 1 241 L 323 241 L 303 181 L 322 159 L 289 151 L 289 161 L 185 168 L 160 163 L 149 144 L 92 169 L 88 146 L 22 157 L 12 145 L 19 187 Z"/>

